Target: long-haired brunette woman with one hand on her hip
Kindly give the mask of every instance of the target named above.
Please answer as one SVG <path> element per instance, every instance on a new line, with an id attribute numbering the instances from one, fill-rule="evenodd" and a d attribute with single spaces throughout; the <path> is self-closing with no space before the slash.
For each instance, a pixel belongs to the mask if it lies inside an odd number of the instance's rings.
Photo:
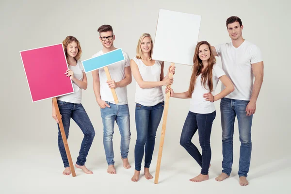
<path id="1" fill-rule="evenodd" d="M 201 41 L 197 44 L 193 63 L 193 72 L 188 91 L 175 93 L 170 88 L 170 96 L 191 98 L 189 113 L 181 133 L 180 145 L 188 151 L 202 168 L 201 173 L 190 180 L 193 182 L 201 182 L 209 179 L 208 169 L 211 160 L 210 133 L 212 122 L 216 116 L 213 102 L 233 92 L 234 86 L 225 72 L 216 65 L 216 59 L 208 42 Z M 219 80 L 226 88 L 219 94 L 213 96 Z M 169 92 L 169 89 L 166 88 L 165 92 Z M 191 142 L 197 129 L 202 155 Z"/>

